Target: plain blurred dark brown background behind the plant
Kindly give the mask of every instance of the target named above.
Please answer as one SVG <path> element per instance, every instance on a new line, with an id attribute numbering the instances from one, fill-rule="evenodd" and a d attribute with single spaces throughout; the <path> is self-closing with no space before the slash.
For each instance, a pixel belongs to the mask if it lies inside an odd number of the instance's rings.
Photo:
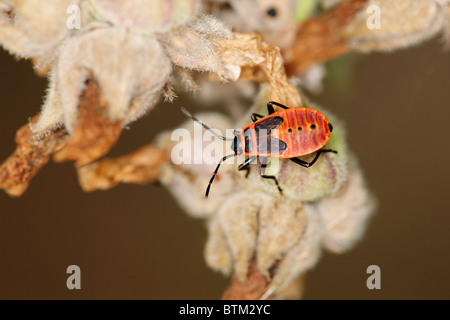
<path id="1" fill-rule="evenodd" d="M 379 208 L 350 252 L 325 253 L 306 299 L 450 299 L 450 53 L 438 40 L 359 57 L 351 86 L 310 96 L 346 122 Z M 40 110 L 46 80 L 0 51 L 0 159 Z M 179 102 L 125 131 L 112 155 L 175 127 Z M 1 299 L 216 299 L 229 279 L 205 266 L 203 221 L 156 186 L 83 193 L 72 164 L 50 163 L 25 195 L 0 193 Z M 81 267 L 82 290 L 66 288 Z M 368 290 L 366 268 L 381 268 Z"/>

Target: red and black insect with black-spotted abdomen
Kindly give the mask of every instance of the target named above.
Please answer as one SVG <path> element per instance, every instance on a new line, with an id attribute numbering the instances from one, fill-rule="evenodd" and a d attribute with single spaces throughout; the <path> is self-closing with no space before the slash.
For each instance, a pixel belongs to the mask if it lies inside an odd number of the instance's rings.
<path id="1" fill-rule="evenodd" d="M 274 106 L 283 110 L 276 111 Z M 186 109 L 181 110 L 192 120 L 201 124 L 206 130 L 225 141 L 233 141 L 232 154 L 220 159 L 216 170 L 209 181 L 205 196 L 208 197 L 211 184 L 219 171 L 219 167 L 228 158 L 245 155 L 245 161 L 238 167 L 238 170 L 249 170 L 250 164 L 258 158 L 261 162 L 260 174 L 263 178 L 275 181 L 278 190 L 282 193 L 278 180 L 275 176 L 265 175 L 268 158 L 289 159 L 296 164 L 309 168 L 316 163 L 319 156 L 324 152 L 334 152 L 334 150 L 323 149 L 330 138 L 333 126 L 328 119 L 319 111 L 310 108 L 288 108 L 278 102 L 267 104 L 268 116 L 253 113 L 252 123 L 242 130 L 235 130 L 234 138 L 229 139 L 216 134 L 207 125 L 193 117 Z M 299 159 L 316 152 L 316 156 L 311 162 Z M 248 172 L 247 172 L 248 174 Z"/>

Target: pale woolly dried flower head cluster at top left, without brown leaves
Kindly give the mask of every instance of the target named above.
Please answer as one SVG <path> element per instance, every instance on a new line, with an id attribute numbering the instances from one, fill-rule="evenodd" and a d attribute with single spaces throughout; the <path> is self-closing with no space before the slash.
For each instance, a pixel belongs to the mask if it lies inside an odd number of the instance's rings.
<path id="1" fill-rule="evenodd" d="M 66 25 L 71 5 L 81 8 L 80 30 Z M 171 92 L 172 63 L 228 78 L 213 42 L 231 33 L 199 10 L 198 0 L 61 0 L 51 9 L 34 0 L 2 1 L 0 43 L 26 58 L 52 57 L 41 61 L 51 68 L 50 86 L 33 132 L 64 126 L 72 134 L 89 79 L 105 94 L 111 121 L 125 126 Z"/>

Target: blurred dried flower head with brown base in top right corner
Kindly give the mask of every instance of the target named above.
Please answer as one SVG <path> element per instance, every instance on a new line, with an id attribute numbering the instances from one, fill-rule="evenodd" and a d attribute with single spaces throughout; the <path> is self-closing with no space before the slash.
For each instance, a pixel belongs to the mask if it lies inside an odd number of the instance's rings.
<path id="1" fill-rule="evenodd" d="M 428 40 L 445 28 L 449 1 L 323 0 L 321 4 L 330 10 L 299 25 L 292 46 L 283 49 L 289 75 L 350 52 L 391 51 Z"/>

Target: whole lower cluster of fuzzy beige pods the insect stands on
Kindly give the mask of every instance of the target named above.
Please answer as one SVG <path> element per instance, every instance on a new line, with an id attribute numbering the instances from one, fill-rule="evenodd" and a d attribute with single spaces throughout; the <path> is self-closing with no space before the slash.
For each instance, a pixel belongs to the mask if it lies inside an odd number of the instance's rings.
<path id="1" fill-rule="evenodd" d="M 219 114 L 199 117 L 215 128 L 230 126 L 230 120 Z M 208 220 L 208 265 L 234 274 L 236 286 L 250 277 L 248 270 L 254 262 L 255 272 L 261 272 L 268 282 L 260 295 L 268 297 L 312 267 L 322 246 L 341 252 L 361 236 L 374 207 L 373 198 L 354 156 L 349 155 L 343 126 L 337 119 L 330 121 L 336 134 L 327 146 L 338 155 L 327 154 L 308 169 L 282 162 L 274 174 L 283 196 L 258 170 L 245 177 L 234 165 L 224 165 L 213 194 L 205 199 L 212 166 L 162 166 L 161 182 L 180 205 L 192 216 Z M 186 122 L 185 128 L 192 130 L 192 124 Z M 160 135 L 158 145 L 171 150 L 170 136 L 170 132 Z"/>

